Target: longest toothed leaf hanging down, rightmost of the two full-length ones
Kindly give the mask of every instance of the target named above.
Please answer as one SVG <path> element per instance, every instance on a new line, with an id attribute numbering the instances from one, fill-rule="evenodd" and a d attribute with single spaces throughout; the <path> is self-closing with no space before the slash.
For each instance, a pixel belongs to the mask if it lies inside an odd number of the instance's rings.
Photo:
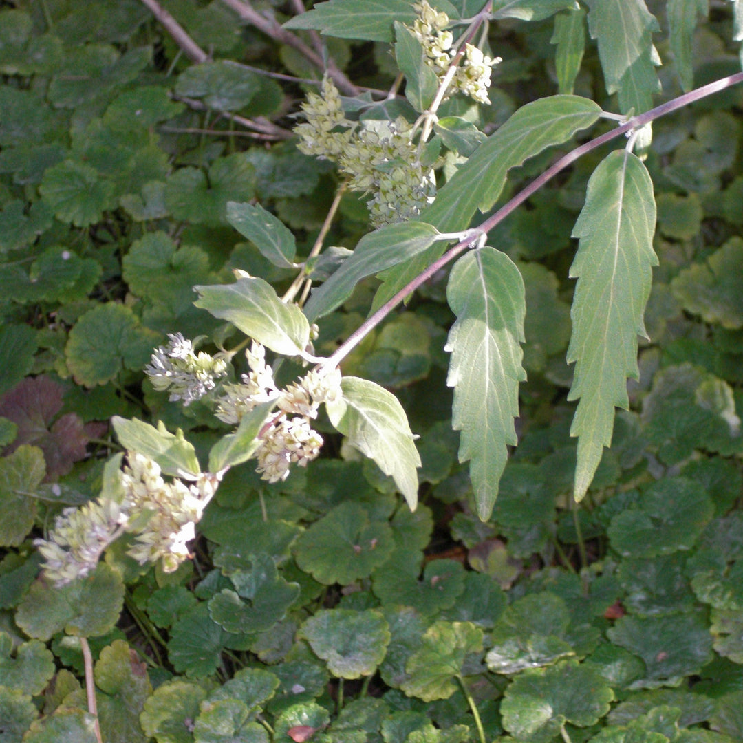
<path id="1" fill-rule="evenodd" d="M 573 230 L 580 239 L 570 275 L 573 337 L 568 363 L 576 361 L 568 400 L 580 398 L 571 427 L 578 437 L 575 498 L 585 496 L 611 444 L 614 406 L 627 409 L 627 377 L 639 377 L 637 334 L 650 293 L 655 201 L 652 181 L 635 155 L 612 152 L 588 181 L 588 194 Z"/>

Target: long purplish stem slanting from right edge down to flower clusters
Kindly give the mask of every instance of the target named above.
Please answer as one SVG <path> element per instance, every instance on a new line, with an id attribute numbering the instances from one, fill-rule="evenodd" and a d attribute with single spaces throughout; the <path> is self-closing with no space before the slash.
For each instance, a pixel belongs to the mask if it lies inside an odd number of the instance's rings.
<path id="1" fill-rule="evenodd" d="M 578 147 L 567 155 L 557 160 L 552 166 L 545 170 L 542 175 L 535 178 L 531 184 L 522 189 L 516 196 L 514 196 L 507 204 L 504 204 L 495 214 L 490 215 L 484 222 L 478 225 L 476 228 L 478 233 L 489 233 L 498 224 L 500 224 L 511 212 L 516 211 L 517 207 L 520 207 L 533 193 L 538 191 L 544 186 L 551 178 L 554 178 L 559 172 L 567 168 L 569 165 L 574 163 L 578 158 L 583 157 L 588 152 L 592 152 L 594 149 L 603 146 L 607 142 L 620 137 L 622 134 L 632 132 L 634 129 L 639 129 L 641 126 L 645 126 L 647 123 L 654 121 L 655 119 L 670 114 L 673 111 L 678 111 L 679 108 L 684 108 L 690 103 L 695 103 L 702 98 L 713 95 L 720 91 L 724 91 L 726 88 L 730 88 L 733 85 L 737 85 L 739 82 L 743 82 L 743 72 L 736 72 L 736 74 L 728 75 L 715 82 L 710 82 L 708 85 L 702 85 L 701 88 L 684 93 L 672 100 L 661 103 L 660 106 L 651 108 L 650 111 L 646 111 L 644 114 L 639 114 L 632 117 L 628 122 L 617 126 L 616 129 L 612 129 L 610 132 L 605 132 L 599 137 L 590 140 Z M 471 235 L 471 233 L 470 233 Z M 432 262 L 429 267 L 421 271 L 415 279 L 412 279 L 406 286 L 404 286 L 392 299 L 385 302 L 371 317 L 367 318 L 350 336 L 331 354 L 322 366 L 332 369 L 337 366 L 351 351 L 356 348 L 359 343 L 374 329 L 377 325 L 382 322 L 383 319 L 389 315 L 389 313 L 403 301 L 410 293 L 415 291 L 421 284 L 424 284 L 438 271 L 440 271 L 447 263 L 450 263 L 460 253 L 464 253 L 469 247 L 473 247 L 476 244 L 476 240 L 468 235 L 465 239 L 458 242 L 454 247 L 450 248 L 447 253 L 444 253 L 441 258 Z"/>

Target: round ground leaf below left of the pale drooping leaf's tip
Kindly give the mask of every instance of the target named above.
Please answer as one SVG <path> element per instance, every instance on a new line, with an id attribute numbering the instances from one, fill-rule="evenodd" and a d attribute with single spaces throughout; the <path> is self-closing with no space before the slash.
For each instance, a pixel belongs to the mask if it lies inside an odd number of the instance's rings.
<path id="1" fill-rule="evenodd" d="M 348 585 L 371 575 L 392 554 L 387 522 L 371 521 L 360 504 L 342 503 L 299 536 L 296 563 L 325 585 Z"/>

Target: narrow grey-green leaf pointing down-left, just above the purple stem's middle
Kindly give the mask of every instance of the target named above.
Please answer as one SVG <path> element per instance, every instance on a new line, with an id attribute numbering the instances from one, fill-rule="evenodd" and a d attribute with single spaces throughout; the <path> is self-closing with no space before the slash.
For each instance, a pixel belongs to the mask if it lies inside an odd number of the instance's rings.
<path id="1" fill-rule="evenodd" d="M 351 296 L 361 279 L 417 256 L 438 238 L 438 230 L 424 222 L 386 224 L 363 236 L 352 255 L 312 292 L 305 305 L 305 317 L 314 322 L 332 312 Z"/>

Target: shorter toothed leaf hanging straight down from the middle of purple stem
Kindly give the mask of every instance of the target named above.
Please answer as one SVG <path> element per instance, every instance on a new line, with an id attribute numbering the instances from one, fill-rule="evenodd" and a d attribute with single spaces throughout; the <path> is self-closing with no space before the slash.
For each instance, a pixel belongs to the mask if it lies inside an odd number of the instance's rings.
<path id="1" fill-rule="evenodd" d="M 445 350 L 452 359 L 447 385 L 454 387 L 452 426 L 461 431 L 459 461 L 470 460 L 478 516 L 490 517 L 498 482 L 514 445 L 526 311 L 519 269 L 499 250 L 483 247 L 462 256 L 447 288 L 457 316 Z"/>

